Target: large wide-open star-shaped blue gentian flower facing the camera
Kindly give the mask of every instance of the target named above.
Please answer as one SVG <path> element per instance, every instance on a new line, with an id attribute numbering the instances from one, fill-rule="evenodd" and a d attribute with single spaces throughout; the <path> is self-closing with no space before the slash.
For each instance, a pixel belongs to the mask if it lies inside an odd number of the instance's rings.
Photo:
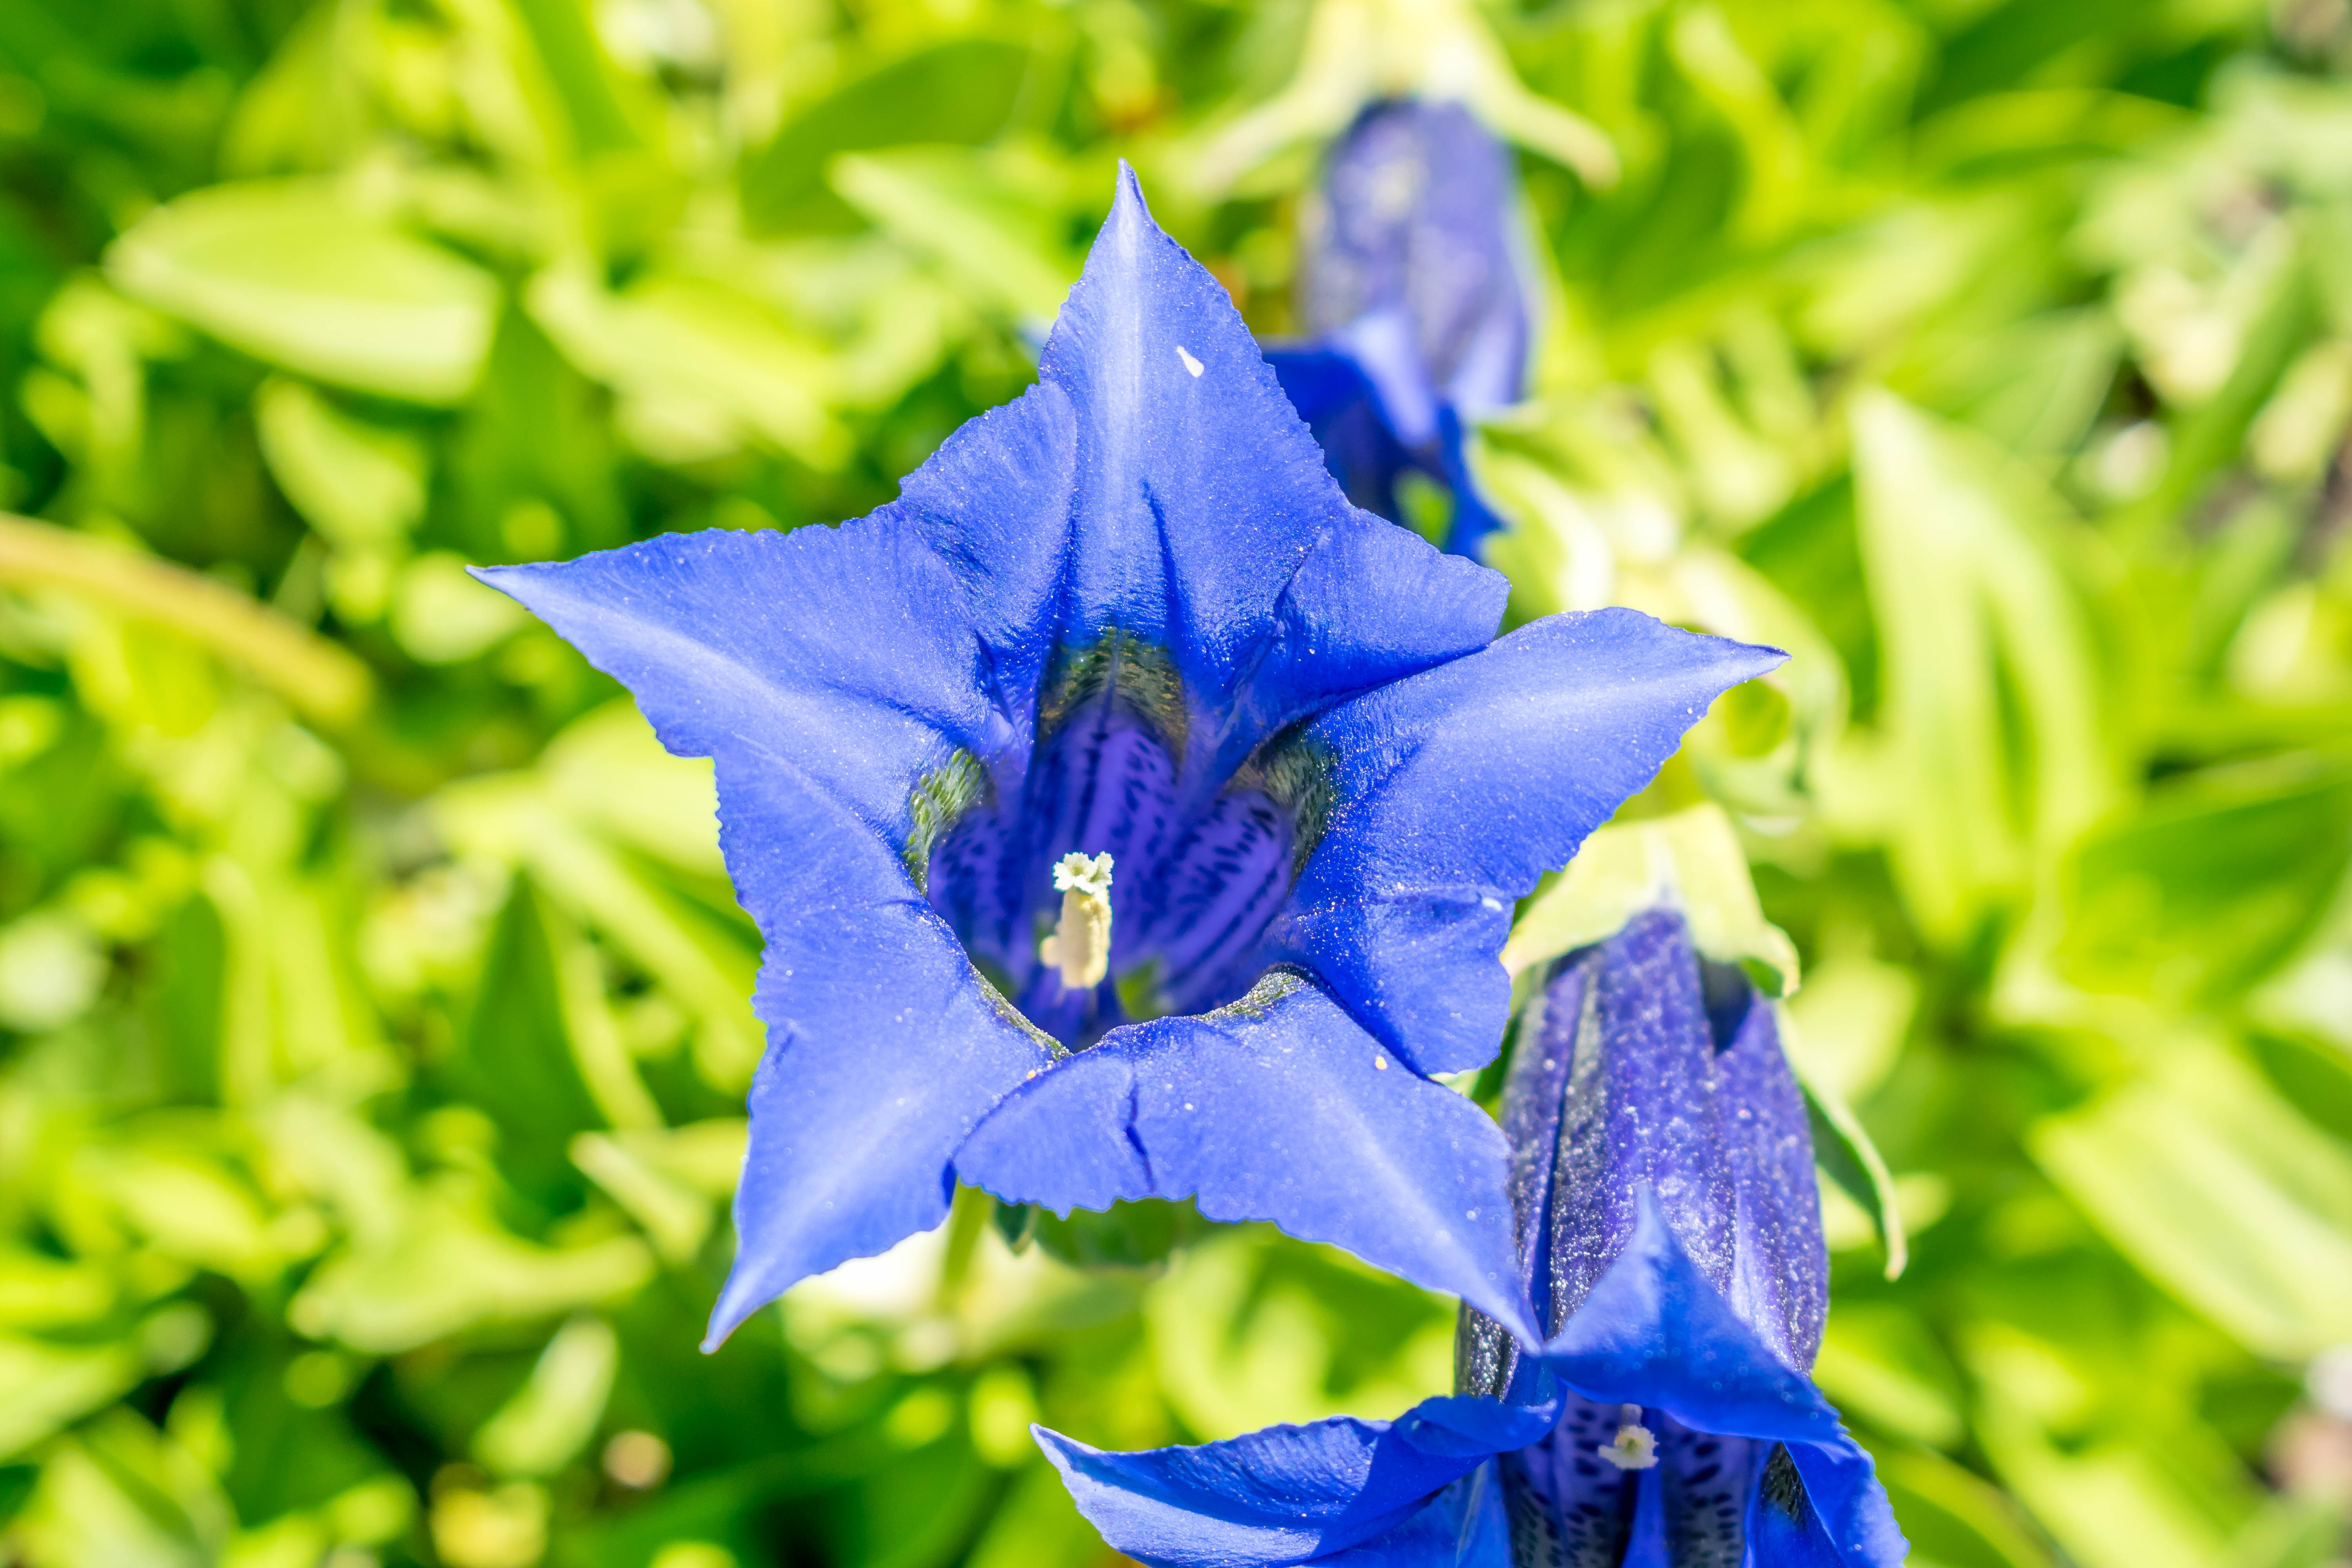
<path id="1" fill-rule="evenodd" d="M 1197 1197 L 1526 1328 L 1494 1056 L 1512 900 L 1771 649 L 1357 512 L 1134 176 L 1018 402 L 837 529 L 482 574 L 717 759 L 767 943 L 713 1340 L 957 1180 Z"/>

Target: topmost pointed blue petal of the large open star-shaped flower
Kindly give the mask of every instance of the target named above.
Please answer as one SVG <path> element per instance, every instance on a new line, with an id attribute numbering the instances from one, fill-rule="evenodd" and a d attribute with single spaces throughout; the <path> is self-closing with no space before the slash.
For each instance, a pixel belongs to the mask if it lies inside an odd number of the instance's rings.
<path id="1" fill-rule="evenodd" d="M 1040 386 L 964 425 L 882 515 L 967 588 L 1016 726 L 1056 649 L 1110 628 L 1164 646 L 1207 715 L 1247 682 L 1249 715 L 1282 724 L 1345 682 L 1319 675 L 1287 698 L 1263 672 L 1270 646 L 1374 684 L 1484 646 L 1501 616 L 1501 578 L 1428 550 L 1383 555 L 1383 578 L 1352 578 L 1348 614 L 1298 623 L 1301 571 L 1352 571 L 1310 557 L 1359 552 L 1378 529 L 1338 494 L 1232 299 L 1152 223 L 1124 165 Z M 1416 607 L 1418 635 L 1395 639 L 1397 611 Z M 1230 762 L 1263 729 L 1225 738 Z"/>

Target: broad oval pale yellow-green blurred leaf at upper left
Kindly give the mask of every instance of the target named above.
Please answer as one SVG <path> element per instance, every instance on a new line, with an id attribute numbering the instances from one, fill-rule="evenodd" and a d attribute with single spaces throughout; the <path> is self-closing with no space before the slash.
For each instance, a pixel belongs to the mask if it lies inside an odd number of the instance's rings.
<path id="1" fill-rule="evenodd" d="M 115 284 L 256 360 L 412 402 L 482 371 L 499 287 L 315 181 L 212 186 L 139 219 Z"/>

